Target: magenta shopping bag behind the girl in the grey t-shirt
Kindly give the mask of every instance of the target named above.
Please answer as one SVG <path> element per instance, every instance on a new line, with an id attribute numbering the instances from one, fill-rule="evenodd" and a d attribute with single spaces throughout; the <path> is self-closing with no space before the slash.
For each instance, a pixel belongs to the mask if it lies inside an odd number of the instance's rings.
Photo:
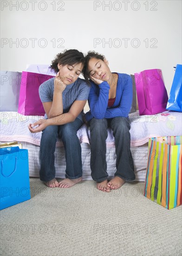
<path id="1" fill-rule="evenodd" d="M 44 115 L 45 110 L 39 98 L 39 86 L 52 75 L 23 71 L 20 86 L 18 113 L 22 115 Z"/>

